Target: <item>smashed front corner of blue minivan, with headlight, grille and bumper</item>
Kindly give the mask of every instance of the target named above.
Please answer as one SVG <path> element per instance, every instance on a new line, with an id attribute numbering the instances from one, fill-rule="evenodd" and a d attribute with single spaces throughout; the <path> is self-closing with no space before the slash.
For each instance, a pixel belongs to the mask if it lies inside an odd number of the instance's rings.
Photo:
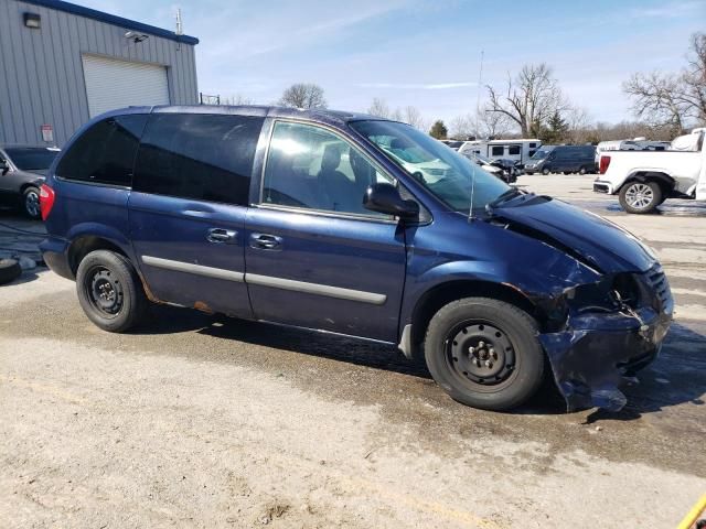
<path id="1" fill-rule="evenodd" d="M 550 305 L 539 341 L 568 410 L 622 409 L 620 387 L 656 358 L 672 322 L 674 304 L 660 264 L 566 289 Z"/>

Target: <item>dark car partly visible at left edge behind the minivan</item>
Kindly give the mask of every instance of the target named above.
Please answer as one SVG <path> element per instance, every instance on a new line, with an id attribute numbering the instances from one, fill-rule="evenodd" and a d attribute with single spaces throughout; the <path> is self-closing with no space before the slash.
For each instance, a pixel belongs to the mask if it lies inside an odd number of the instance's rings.
<path id="1" fill-rule="evenodd" d="M 0 202 L 40 218 L 40 186 L 58 149 L 0 145 Z"/>

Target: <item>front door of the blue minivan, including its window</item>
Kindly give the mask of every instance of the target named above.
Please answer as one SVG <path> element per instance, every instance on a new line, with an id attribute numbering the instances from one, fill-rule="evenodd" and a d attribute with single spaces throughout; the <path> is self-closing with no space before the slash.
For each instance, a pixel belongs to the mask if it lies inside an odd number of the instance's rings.
<path id="1" fill-rule="evenodd" d="M 246 281 L 260 320 L 395 342 L 405 234 L 363 207 L 393 180 L 336 133 L 277 121 L 259 204 L 246 219 Z"/>

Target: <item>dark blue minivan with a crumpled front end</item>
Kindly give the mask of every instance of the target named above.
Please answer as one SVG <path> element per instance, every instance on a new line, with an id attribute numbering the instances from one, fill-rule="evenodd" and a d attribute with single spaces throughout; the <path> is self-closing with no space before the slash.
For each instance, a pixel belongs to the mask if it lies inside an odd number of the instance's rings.
<path id="1" fill-rule="evenodd" d="M 478 408 L 550 376 L 568 409 L 619 409 L 672 320 L 635 237 L 372 116 L 117 110 L 40 194 L 44 260 L 105 331 L 148 325 L 152 302 L 396 344 Z"/>

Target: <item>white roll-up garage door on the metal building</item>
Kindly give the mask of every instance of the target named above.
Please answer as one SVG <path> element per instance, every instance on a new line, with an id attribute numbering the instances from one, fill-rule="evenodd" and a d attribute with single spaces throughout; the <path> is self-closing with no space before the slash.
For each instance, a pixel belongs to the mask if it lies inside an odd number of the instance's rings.
<path id="1" fill-rule="evenodd" d="M 92 118 L 131 105 L 169 105 L 164 66 L 95 55 L 82 58 Z"/>

